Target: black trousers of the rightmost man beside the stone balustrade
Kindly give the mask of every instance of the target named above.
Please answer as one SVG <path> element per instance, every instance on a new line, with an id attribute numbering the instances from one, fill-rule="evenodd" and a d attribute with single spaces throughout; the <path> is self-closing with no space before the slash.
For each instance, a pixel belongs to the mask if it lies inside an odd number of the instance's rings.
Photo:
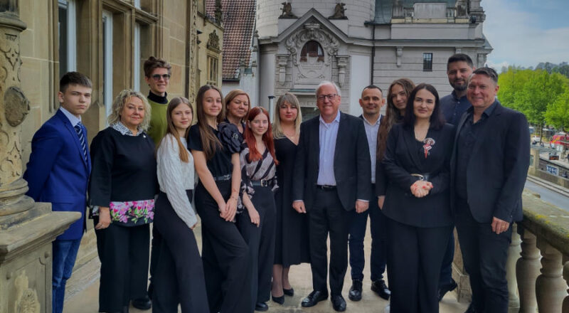
<path id="1" fill-rule="evenodd" d="M 464 269 L 470 276 L 472 304 L 477 312 L 508 312 L 506 260 L 511 226 L 496 235 L 491 223 L 478 223 L 464 199 L 457 198 L 456 224 Z"/>

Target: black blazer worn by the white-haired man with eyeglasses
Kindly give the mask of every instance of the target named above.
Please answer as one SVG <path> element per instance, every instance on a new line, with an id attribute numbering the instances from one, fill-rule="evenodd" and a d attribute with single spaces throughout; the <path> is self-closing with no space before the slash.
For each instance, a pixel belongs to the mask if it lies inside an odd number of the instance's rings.
<path id="1" fill-rule="evenodd" d="M 320 116 L 300 125 L 300 138 L 294 162 L 292 198 L 303 200 L 307 211 L 314 203 L 319 157 Z M 371 160 L 363 121 L 340 113 L 336 151 L 334 151 L 334 178 L 336 190 L 346 211 L 353 210 L 356 200 L 370 200 Z M 371 199 L 375 201 L 375 199 Z"/>

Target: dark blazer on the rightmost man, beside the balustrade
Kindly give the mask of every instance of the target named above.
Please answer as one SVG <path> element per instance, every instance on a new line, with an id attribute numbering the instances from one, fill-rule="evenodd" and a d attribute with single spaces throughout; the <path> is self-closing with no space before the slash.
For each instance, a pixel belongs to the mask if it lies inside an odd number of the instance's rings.
<path id="1" fill-rule="evenodd" d="M 462 115 L 454 142 L 469 112 Z M 454 144 L 457 147 L 457 144 Z M 496 101 L 472 149 L 467 167 L 467 196 L 472 216 L 479 223 L 521 221 L 521 192 L 529 167 L 529 127 L 526 116 Z M 456 148 L 451 159 L 451 207 L 454 212 Z"/>

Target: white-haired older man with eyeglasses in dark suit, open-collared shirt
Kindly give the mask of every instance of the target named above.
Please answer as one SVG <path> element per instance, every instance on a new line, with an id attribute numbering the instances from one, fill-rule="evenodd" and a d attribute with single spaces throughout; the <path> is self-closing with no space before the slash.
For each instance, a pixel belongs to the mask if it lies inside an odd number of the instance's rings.
<path id="1" fill-rule="evenodd" d="M 294 210 L 309 213 L 306 240 L 310 246 L 313 291 L 302 300 L 302 307 L 313 307 L 328 298 L 329 271 L 332 307 L 343 312 L 346 301 L 341 291 L 348 267 L 351 211 L 368 209 L 371 160 L 363 120 L 339 111 L 339 87 L 321 82 L 316 95 L 320 115 L 300 126 L 292 189 Z"/>

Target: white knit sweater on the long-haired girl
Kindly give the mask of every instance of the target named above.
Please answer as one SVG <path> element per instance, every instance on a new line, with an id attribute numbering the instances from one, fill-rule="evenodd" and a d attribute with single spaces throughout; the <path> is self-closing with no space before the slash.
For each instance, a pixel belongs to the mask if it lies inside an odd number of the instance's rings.
<path id="1" fill-rule="evenodd" d="M 184 147 L 188 147 L 186 139 L 180 138 Z M 196 212 L 186 194 L 193 189 L 193 157 L 188 153 L 188 163 L 180 159 L 179 146 L 172 134 L 166 134 L 156 152 L 156 174 L 160 191 L 166 193 L 174 211 L 184 223 L 191 228 L 196 224 Z"/>

